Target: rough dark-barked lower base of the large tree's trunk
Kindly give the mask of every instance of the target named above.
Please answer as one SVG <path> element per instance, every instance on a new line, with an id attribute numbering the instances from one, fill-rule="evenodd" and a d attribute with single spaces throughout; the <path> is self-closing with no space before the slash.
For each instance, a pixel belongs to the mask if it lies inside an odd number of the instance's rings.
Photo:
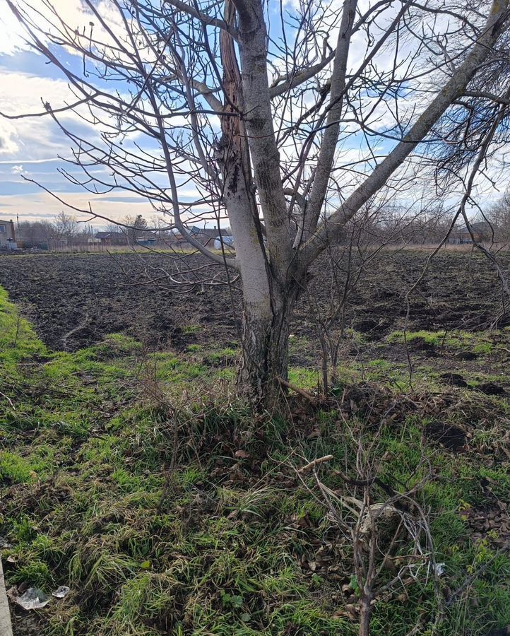
<path id="1" fill-rule="evenodd" d="M 274 300 L 274 299 L 273 299 Z M 285 396 L 280 378 L 288 377 L 289 320 L 294 299 L 261 305 L 245 304 L 242 358 L 237 374 L 239 393 L 269 411 L 278 409 Z"/>

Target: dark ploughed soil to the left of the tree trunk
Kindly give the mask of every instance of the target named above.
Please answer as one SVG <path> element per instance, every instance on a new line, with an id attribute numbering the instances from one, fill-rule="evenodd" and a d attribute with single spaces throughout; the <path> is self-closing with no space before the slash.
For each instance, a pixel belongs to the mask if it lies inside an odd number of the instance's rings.
<path id="1" fill-rule="evenodd" d="M 76 351 L 117 332 L 151 347 L 171 344 L 178 349 L 211 332 L 223 344 L 235 339 L 227 287 L 199 285 L 184 294 L 147 284 L 161 276 L 160 268 L 171 265 L 158 254 L 4 257 L 0 285 L 56 350 Z M 190 325 L 201 329 L 186 333 Z"/>

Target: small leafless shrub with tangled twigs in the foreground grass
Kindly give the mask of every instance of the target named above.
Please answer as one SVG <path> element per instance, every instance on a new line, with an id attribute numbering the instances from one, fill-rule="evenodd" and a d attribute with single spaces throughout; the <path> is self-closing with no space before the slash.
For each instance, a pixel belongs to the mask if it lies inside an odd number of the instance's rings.
<path id="1" fill-rule="evenodd" d="M 307 461 L 297 474 L 309 493 L 324 505 L 326 518 L 338 526 L 340 536 L 350 540 L 354 575 L 346 587 L 353 591 L 357 588 L 357 599 L 346 605 L 344 612 L 350 618 L 358 618 L 359 636 L 369 636 L 374 606 L 397 591 L 407 598 L 408 588 L 432 580 L 441 605 L 441 570 L 435 561 L 429 519 L 419 503 L 433 474 L 424 452 L 412 471 L 413 478 L 408 483 L 398 483 L 396 488 L 381 475 L 384 459 L 381 461 L 381 454 L 376 454 L 379 432 L 370 436 L 364 425 L 356 430 L 348 421 L 343 424 L 345 435 L 350 438 L 348 443 L 355 449 L 351 464 L 355 475 L 337 469 L 335 481 L 340 488 L 328 488 L 320 471 L 334 459 L 333 455 Z M 312 479 L 307 478 L 310 473 Z M 419 474 L 422 478 L 416 479 Z"/>

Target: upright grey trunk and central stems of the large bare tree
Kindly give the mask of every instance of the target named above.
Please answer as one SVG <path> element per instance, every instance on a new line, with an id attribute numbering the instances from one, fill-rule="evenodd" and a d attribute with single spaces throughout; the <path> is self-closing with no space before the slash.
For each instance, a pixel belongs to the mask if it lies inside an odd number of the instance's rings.
<path id="1" fill-rule="evenodd" d="M 225 2 L 225 23 L 234 25 L 235 1 Z M 237 3 L 239 11 L 239 2 Z M 251 20 L 252 16 L 241 19 Z M 263 20 L 261 21 L 263 24 Z M 260 66 L 265 68 L 266 40 L 265 30 L 259 28 L 249 34 L 248 39 L 255 38 L 255 52 L 261 52 L 261 59 L 256 61 L 250 53 L 244 56 L 243 79 L 237 66 L 236 49 L 232 37 L 221 34 L 220 49 L 223 62 L 223 86 L 227 95 L 224 105 L 225 114 L 251 115 L 243 117 L 222 117 L 222 140 L 220 151 L 222 157 L 220 167 L 223 172 L 224 199 L 229 213 L 232 232 L 235 237 L 236 261 L 242 278 L 244 299 L 242 325 L 242 360 L 237 375 L 237 389 L 240 394 L 254 402 L 259 408 L 278 408 L 284 389 L 278 378 L 287 379 L 289 317 L 295 294 L 289 289 L 286 277 L 290 269 L 290 240 L 285 235 L 278 236 L 281 225 L 286 219 L 285 199 L 280 180 L 280 164 L 278 152 L 275 152 L 274 131 L 271 119 L 271 102 L 267 97 L 261 100 L 261 93 L 268 91 L 267 73 L 262 73 L 260 85 L 254 86 L 254 80 L 260 78 Z M 255 56 L 256 57 L 256 56 Z M 251 81 L 247 81 L 247 76 Z M 266 110 L 260 114 L 261 107 Z M 258 116 L 257 116 L 258 114 Z M 255 124 L 254 124 L 255 122 Z M 257 130 L 262 122 L 268 130 Z M 248 131 L 247 131 L 248 128 Z M 251 131 L 251 135 L 250 135 Z M 251 144 L 251 153 L 250 148 Z M 269 148 L 268 148 L 269 146 Z M 274 147 L 273 147 L 274 146 Z M 269 158 L 269 159 L 268 159 Z M 271 211 L 266 213 L 264 221 L 268 232 L 268 252 L 264 245 L 261 222 L 257 210 L 254 187 L 251 183 L 251 160 L 254 171 L 259 177 L 259 196 L 264 201 L 271 194 Z M 260 183 L 265 187 L 260 187 Z M 267 189 L 267 192 L 266 192 Z M 275 196 L 275 192 L 281 196 Z M 272 227 L 275 210 L 279 215 L 278 232 Z M 277 223 L 278 225 L 278 223 Z M 273 247 L 278 243 L 278 249 Z M 287 254 L 289 252 L 289 254 Z M 292 285 L 290 285 L 292 288 Z"/>

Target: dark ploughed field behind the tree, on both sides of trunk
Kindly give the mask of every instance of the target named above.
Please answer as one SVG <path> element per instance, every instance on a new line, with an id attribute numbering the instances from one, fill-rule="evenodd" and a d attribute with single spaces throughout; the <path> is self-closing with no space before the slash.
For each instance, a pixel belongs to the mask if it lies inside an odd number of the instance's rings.
<path id="1" fill-rule="evenodd" d="M 360 346 L 348 347 L 349 355 L 359 357 L 379 344 L 377 355 L 405 360 L 401 344 L 383 344 L 391 332 L 403 328 L 405 294 L 420 276 L 427 256 L 420 250 L 385 254 L 362 275 L 346 307 L 345 327 L 362 334 L 364 345 L 361 351 Z M 185 258 L 186 265 L 201 276 L 206 260 L 200 255 Z M 508 267 L 510 257 L 503 256 L 501 261 Z M 0 257 L 0 285 L 55 350 L 73 351 L 112 332 L 130 334 L 152 348 L 171 346 L 178 351 L 194 343 L 235 345 L 238 290 L 234 288 L 231 295 L 226 285 L 198 283 L 181 293 L 164 278 L 165 273 L 175 275 L 178 269 L 183 269 L 182 261 L 167 254 L 11 256 Z M 337 273 L 342 284 L 347 271 L 347 263 L 341 261 Z M 224 277 L 220 269 L 217 273 Z M 150 284 L 154 278 L 159 286 Z M 331 296 L 328 261 L 315 266 L 309 289 L 324 308 Z M 441 252 L 412 295 L 408 329 L 484 331 L 501 314 L 501 298 L 496 273 L 487 259 L 468 252 Z M 316 342 L 316 312 L 316 305 L 304 293 L 292 333 Z M 505 324 L 509 324 L 508 317 L 498 326 Z M 423 343 L 414 343 L 412 348 L 422 358 L 433 355 Z M 304 365 L 308 353 L 297 355 L 295 363 Z M 455 368 L 458 360 L 453 359 L 451 365 L 446 361 L 444 366 Z"/>

